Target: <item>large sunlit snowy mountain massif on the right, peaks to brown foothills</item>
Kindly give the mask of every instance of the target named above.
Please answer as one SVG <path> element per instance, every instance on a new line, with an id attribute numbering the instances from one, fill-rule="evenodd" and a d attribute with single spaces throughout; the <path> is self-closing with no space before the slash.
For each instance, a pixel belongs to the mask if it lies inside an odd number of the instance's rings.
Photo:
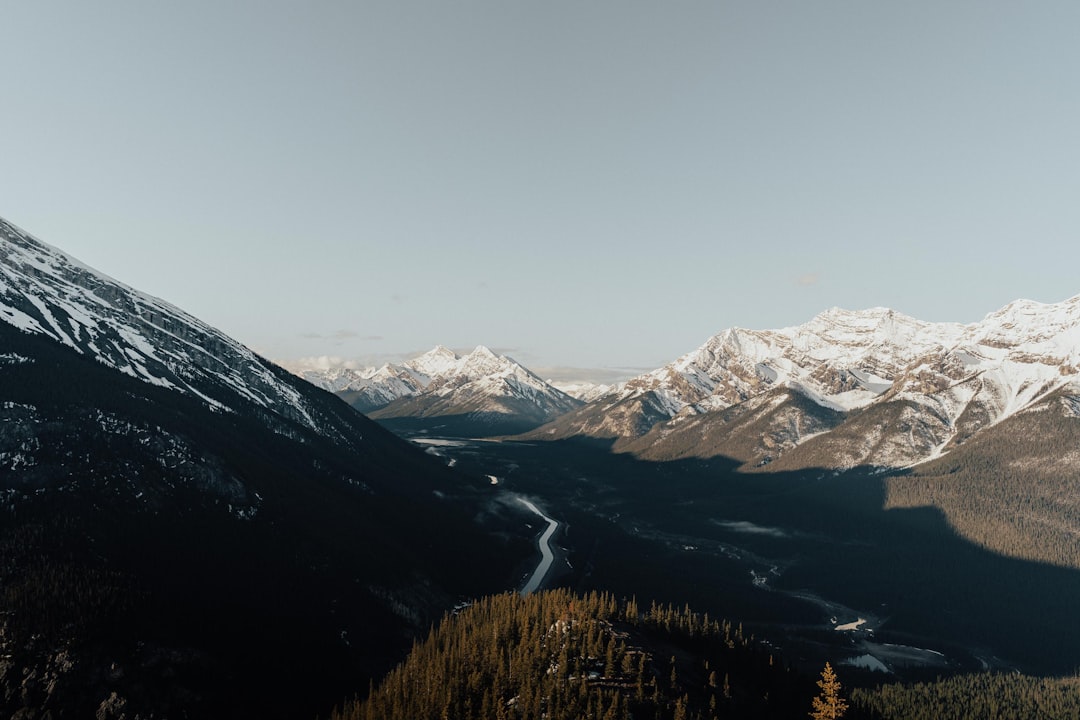
<path id="1" fill-rule="evenodd" d="M 1080 296 L 970 325 L 832 309 L 725 330 L 532 435 L 613 438 L 651 458 L 908 465 L 1072 388 L 1078 363 Z"/>

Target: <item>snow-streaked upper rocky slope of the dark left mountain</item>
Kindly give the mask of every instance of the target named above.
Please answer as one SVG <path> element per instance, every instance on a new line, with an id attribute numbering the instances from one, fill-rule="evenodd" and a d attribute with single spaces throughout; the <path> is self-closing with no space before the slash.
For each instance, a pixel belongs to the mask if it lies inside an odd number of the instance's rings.
<path id="1" fill-rule="evenodd" d="M 266 359 L 2 219 L 0 321 L 215 409 L 246 400 L 321 430 L 301 393 Z"/>

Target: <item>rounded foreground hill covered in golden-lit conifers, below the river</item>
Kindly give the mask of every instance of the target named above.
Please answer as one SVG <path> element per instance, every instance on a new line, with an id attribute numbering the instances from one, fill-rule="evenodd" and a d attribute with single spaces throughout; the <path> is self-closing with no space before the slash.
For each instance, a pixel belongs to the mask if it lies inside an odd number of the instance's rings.
<path id="1" fill-rule="evenodd" d="M 551 590 L 485 598 L 444 619 L 365 702 L 333 717 L 805 718 L 818 693 L 730 622 Z"/>

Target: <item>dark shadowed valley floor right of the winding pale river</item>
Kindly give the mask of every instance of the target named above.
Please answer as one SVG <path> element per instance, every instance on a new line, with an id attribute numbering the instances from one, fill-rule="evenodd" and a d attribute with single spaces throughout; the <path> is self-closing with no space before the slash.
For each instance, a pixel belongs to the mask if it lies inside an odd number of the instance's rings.
<path id="1" fill-rule="evenodd" d="M 430 441 L 430 440 L 429 440 Z M 886 510 L 881 474 L 656 463 L 591 441 L 441 448 L 564 524 L 548 586 L 739 619 L 788 662 L 848 682 L 980 670 L 1066 675 L 1080 572 L 1002 557 L 930 507 Z M 539 532 L 539 528 L 535 528 Z"/>

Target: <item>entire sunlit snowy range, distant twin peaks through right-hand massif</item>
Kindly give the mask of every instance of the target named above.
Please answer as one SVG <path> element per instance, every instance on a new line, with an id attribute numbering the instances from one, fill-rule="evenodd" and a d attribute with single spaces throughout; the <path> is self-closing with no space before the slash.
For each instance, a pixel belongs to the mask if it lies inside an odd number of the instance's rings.
<path id="1" fill-rule="evenodd" d="M 1080 410 L 1080 296 L 1017 300 L 970 325 L 885 308 L 732 328 L 676 361 L 570 397 L 486 348 L 305 377 L 395 427 L 590 437 L 651 460 L 746 468 L 907 467 L 1028 411 Z M 462 419 L 474 422 L 462 424 Z"/>

